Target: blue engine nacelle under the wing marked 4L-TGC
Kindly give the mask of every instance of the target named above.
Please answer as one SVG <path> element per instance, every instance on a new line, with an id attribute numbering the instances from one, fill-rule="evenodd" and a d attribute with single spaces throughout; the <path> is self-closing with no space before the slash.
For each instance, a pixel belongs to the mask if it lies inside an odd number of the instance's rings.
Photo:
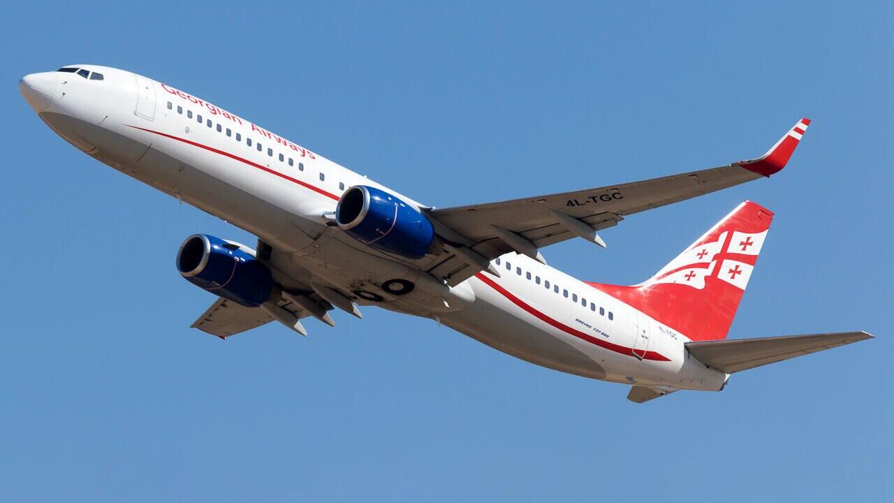
<path id="1" fill-rule="evenodd" d="M 335 221 L 351 237 L 383 252 L 421 259 L 435 243 L 428 218 L 397 196 L 367 185 L 342 194 Z"/>

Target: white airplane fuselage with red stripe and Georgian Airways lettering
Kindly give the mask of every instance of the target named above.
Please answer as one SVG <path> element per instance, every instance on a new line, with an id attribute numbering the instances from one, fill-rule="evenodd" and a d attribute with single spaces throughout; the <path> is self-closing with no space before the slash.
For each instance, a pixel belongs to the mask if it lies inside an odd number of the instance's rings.
<path id="1" fill-rule="evenodd" d="M 440 320 L 504 353 L 590 378 L 718 390 L 728 377 L 690 358 L 684 335 L 514 253 L 493 261 L 502 277 L 478 273 L 448 301 L 421 288 L 385 294 L 382 281 L 419 271 L 325 219 L 350 186 L 384 186 L 181 90 L 114 68 L 81 67 L 104 80 L 46 72 L 31 79 L 37 91 L 22 91 L 48 97 L 29 98 L 46 124 L 125 175 L 256 234 L 282 252 L 273 266 L 285 283 L 319 277 L 344 291 L 372 291 L 384 300 L 357 302 Z"/>

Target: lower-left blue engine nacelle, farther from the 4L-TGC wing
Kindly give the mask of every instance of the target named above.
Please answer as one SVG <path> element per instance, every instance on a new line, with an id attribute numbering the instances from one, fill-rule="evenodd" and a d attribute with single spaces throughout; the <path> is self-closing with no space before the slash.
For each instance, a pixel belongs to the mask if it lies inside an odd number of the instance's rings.
<path id="1" fill-rule="evenodd" d="M 270 269 L 248 248 L 213 235 L 186 238 L 177 252 L 177 269 L 193 285 L 248 307 L 265 303 L 274 291 Z"/>

